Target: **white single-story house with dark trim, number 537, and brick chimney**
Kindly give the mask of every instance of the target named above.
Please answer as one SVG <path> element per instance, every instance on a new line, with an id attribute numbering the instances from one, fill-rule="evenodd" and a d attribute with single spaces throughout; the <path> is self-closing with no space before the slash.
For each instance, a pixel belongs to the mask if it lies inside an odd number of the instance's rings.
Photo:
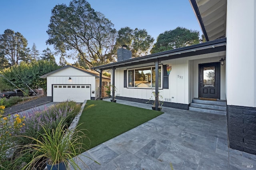
<path id="1" fill-rule="evenodd" d="M 112 69 L 117 99 L 155 91 L 163 106 L 227 115 L 229 146 L 256 154 L 256 1 L 189 1 L 207 42 L 125 60 L 121 48 L 93 69 Z"/>

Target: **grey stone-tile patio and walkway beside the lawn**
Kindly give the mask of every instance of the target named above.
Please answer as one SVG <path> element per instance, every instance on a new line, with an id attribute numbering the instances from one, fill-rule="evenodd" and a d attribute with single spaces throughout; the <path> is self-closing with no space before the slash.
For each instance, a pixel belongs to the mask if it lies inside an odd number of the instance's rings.
<path id="1" fill-rule="evenodd" d="M 109 99 L 106 99 L 107 101 Z M 117 103 L 151 109 L 150 105 Z M 88 170 L 249 170 L 256 155 L 228 147 L 227 119 L 163 107 L 164 114 L 100 144 L 83 154 Z M 249 165 L 249 166 L 248 166 Z M 248 166 L 248 167 L 247 167 Z M 247 168 L 246 168 L 247 167 Z M 249 168 L 250 167 L 250 168 Z"/>

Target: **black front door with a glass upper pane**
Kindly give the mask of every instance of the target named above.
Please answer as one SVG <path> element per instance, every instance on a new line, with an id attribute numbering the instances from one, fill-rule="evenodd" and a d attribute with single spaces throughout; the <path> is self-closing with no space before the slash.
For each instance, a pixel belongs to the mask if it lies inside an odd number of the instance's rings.
<path id="1" fill-rule="evenodd" d="M 199 97 L 220 99 L 220 62 L 199 64 Z"/>

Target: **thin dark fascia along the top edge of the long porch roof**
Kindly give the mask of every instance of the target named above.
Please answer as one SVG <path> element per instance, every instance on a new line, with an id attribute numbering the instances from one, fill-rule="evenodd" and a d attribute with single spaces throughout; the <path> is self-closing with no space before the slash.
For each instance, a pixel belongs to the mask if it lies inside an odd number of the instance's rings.
<path id="1" fill-rule="evenodd" d="M 125 65 L 127 63 L 131 63 L 132 61 L 136 61 L 136 60 L 147 59 L 147 58 L 150 58 L 150 57 L 160 58 L 160 57 L 162 57 L 162 55 L 165 55 L 165 54 L 178 53 L 178 52 L 182 52 L 182 51 L 196 49 L 196 48 L 199 48 L 199 47 L 208 47 L 208 46 L 214 46 L 214 45 L 219 45 L 219 44 L 223 44 L 223 43 L 226 43 L 226 38 L 213 40 L 213 41 L 209 41 L 209 42 L 205 42 L 205 43 L 199 43 L 199 44 L 196 44 L 196 45 L 190 45 L 190 46 L 187 46 L 187 47 L 172 49 L 172 50 L 168 50 L 168 51 L 162 51 L 162 52 L 159 52 L 159 53 L 154 53 L 154 54 L 145 55 L 145 56 L 142 56 L 142 57 L 137 57 L 137 58 L 127 59 L 127 60 L 123 60 L 123 61 L 118 61 L 118 62 L 114 62 L 114 63 L 110 63 L 110 64 L 100 65 L 100 66 L 92 67 L 92 69 L 94 69 L 94 70 L 96 70 L 96 69 L 111 69 L 114 66 Z M 135 62 L 135 63 L 137 63 L 137 62 Z"/>

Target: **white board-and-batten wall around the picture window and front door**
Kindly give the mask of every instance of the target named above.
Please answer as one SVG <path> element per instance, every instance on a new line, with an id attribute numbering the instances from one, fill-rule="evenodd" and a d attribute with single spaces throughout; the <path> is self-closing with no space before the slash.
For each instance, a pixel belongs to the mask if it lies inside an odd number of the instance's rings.
<path id="1" fill-rule="evenodd" d="M 170 64 L 172 66 L 172 71 L 169 75 L 169 89 L 159 90 L 163 100 L 172 103 L 191 103 L 193 97 L 198 97 L 198 64 L 218 62 L 221 57 L 225 57 L 225 51 L 162 61 L 160 64 Z M 118 89 L 117 95 L 137 99 L 150 99 L 154 89 L 126 88 L 123 81 L 124 70 L 149 65 L 154 65 L 154 63 L 116 68 L 115 79 L 118 81 L 115 81 L 115 86 Z M 226 99 L 225 79 L 225 66 L 222 66 L 221 99 L 224 100 Z"/>

